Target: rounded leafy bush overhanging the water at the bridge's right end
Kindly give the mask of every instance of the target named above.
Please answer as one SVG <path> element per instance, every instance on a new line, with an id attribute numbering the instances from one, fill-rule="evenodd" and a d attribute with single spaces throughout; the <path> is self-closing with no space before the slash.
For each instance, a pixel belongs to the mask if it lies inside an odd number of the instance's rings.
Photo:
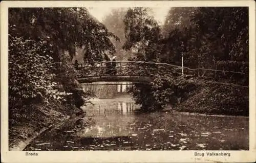
<path id="1" fill-rule="evenodd" d="M 150 84 L 135 84 L 129 89 L 137 104 L 143 110 L 160 110 L 166 105 L 176 105 L 184 101 L 195 89 L 195 84 L 189 83 L 183 77 L 162 75 L 155 77 Z"/>

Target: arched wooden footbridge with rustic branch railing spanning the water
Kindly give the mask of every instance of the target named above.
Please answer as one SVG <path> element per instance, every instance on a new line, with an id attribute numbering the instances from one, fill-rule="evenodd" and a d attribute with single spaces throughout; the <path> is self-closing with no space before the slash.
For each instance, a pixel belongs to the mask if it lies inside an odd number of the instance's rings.
<path id="1" fill-rule="evenodd" d="M 115 65 L 115 66 L 113 66 Z M 92 83 L 98 81 L 128 81 L 149 83 L 154 76 L 164 74 L 181 75 L 182 67 L 155 62 L 129 61 L 129 62 L 93 62 L 74 64 L 78 72 L 79 83 Z"/>

